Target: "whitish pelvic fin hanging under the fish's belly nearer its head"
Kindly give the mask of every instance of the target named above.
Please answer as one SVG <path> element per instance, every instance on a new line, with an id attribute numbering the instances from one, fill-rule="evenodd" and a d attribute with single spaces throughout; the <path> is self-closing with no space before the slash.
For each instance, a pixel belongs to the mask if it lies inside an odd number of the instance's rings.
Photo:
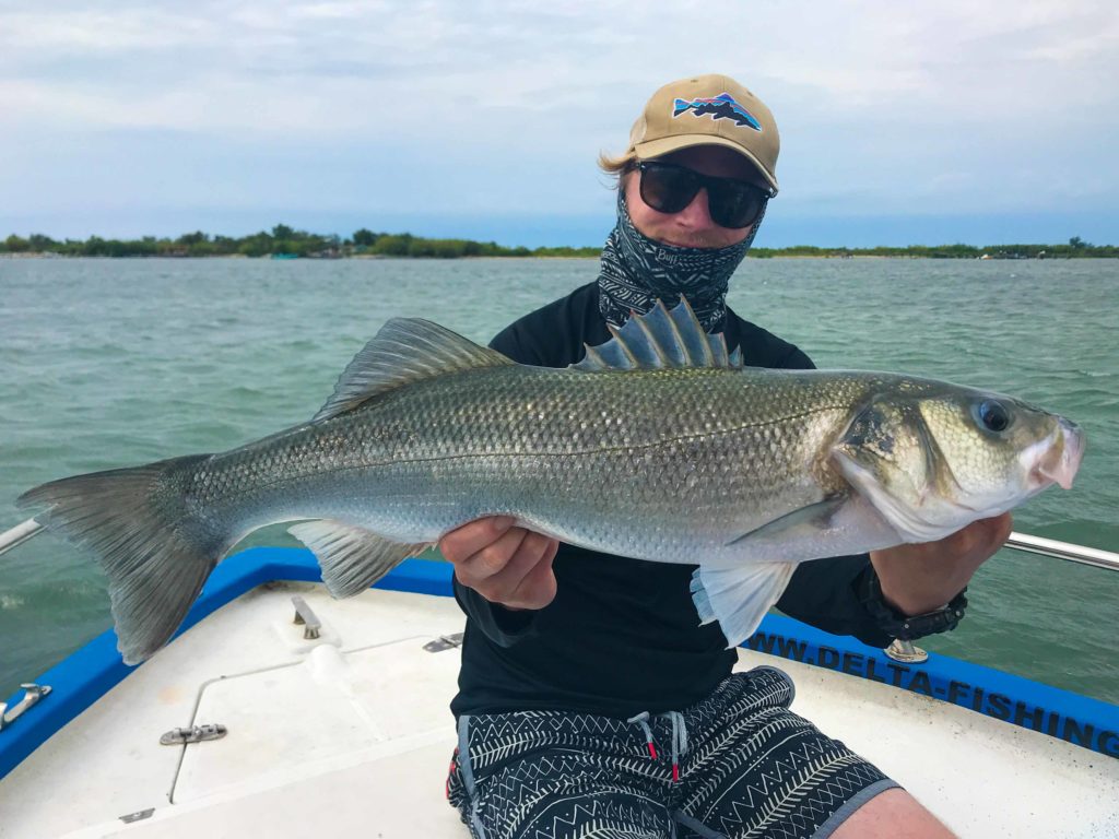
<path id="1" fill-rule="evenodd" d="M 700 623 L 718 621 L 727 648 L 737 647 L 758 629 L 777 603 L 798 563 L 753 563 L 732 568 L 700 565 L 692 575 L 692 601 Z"/>

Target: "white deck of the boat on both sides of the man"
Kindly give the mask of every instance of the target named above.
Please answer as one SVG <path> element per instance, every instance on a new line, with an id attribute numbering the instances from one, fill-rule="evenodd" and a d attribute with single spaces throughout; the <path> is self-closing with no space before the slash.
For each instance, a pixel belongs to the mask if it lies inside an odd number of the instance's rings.
<path id="1" fill-rule="evenodd" d="M 292 624 L 291 595 L 322 621 Z M 203 621 L 0 781 L 0 837 L 467 837 L 444 800 L 460 632 L 450 597 L 257 588 Z M 793 709 L 963 837 L 1119 837 L 1119 761 L 887 685 L 779 667 Z M 163 746 L 177 727 L 223 739 Z"/>

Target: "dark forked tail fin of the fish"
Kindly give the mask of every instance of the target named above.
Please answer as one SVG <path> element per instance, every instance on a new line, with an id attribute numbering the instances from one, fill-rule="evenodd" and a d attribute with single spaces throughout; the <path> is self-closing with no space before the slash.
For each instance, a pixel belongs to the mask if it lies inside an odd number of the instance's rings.
<path id="1" fill-rule="evenodd" d="M 167 643 L 232 546 L 190 509 L 186 479 L 209 456 L 64 478 L 17 500 L 41 508 L 36 519 L 48 530 L 96 554 L 128 664 Z"/>

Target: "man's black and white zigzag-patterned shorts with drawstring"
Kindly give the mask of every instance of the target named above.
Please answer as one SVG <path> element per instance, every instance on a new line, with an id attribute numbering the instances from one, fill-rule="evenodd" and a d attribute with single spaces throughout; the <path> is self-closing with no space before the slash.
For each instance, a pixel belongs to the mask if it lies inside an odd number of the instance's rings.
<path id="1" fill-rule="evenodd" d="M 822 839 L 897 786 L 756 668 L 683 711 L 463 715 L 446 794 L 474 839 Z"/>

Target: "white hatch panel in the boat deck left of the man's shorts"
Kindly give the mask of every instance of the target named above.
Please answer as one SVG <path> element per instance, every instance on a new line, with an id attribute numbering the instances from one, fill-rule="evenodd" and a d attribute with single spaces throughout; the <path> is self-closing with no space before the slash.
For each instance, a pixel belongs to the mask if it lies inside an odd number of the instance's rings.
<path id="1" fill-rule="evenodd" d="M 317 770 L 452 741 L 448 685 L 460 657 L 427 654 L 431 640 L 352 651 L 319 644 L 297 663 L 208 682 L 192 725 L 220 719 L 228 736 L 184 750 L 172 801 L 298 783 Z"/>

